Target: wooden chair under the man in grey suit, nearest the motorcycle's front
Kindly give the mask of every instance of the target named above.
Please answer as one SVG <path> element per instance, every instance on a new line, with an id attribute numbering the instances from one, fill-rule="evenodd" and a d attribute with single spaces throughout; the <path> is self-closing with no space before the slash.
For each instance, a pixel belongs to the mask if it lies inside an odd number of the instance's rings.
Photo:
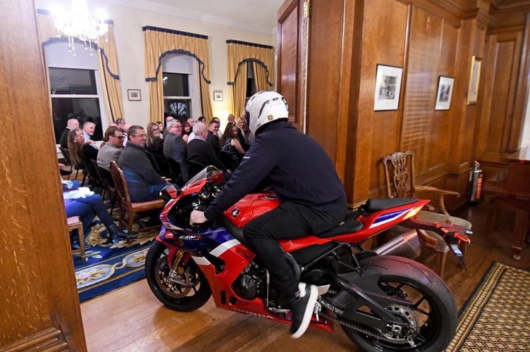
<path id="1" fill-rule="evenodd" d="M 120 230 L 123 225 L 127 226 L 127 232 L 133 233 L 132 224 L 135 222 L 136 215 L 147 210 L 154 210 L 164 207 L 163 199 L 156 199 L 154 201 L 144 201 L 141 203 L 132 203 L 130 200 L 129 189 L 127 187 L 127 181 L 123 175 L 123 171 L 118 166 L 116 161 L 111 161 L 111 175 L 114 180 L 114 186 L 116 187 L 116 197 L 118 199 L 118 221 Z M 125 217 L 127 213 L 127 217 Z M 159 225 L 142 227 L 135 232 L 153 230 Z"/>

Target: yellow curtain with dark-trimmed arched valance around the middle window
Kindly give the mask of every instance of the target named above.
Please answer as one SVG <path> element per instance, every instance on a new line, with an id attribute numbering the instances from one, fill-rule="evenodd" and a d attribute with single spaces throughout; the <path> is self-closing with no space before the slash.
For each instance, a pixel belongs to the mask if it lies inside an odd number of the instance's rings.
<path id="1" fill-rule="evenodd" d="M 166 54 L 187 54 L 193 56 L 199 65 L 202 115 L 211 118 L 209 93 L 208 37 L 200 34 L 142 27 L 145 39 L 145 80 L 149 82 L 151 113 L 149 121 L 161 120 L 164 115 L 164 89 L 161 82 L 161 58 Z M 158 83 L 156 83 L 158 82 Z"/>

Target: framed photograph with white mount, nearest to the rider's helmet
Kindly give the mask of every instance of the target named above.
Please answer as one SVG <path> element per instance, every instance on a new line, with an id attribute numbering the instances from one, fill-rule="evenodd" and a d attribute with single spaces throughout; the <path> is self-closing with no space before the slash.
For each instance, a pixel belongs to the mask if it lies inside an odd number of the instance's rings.
<path id="1" fill-rule="evenodd" d="M 398 110 L 403 68 L 377 65 L 374 111 Z"/>

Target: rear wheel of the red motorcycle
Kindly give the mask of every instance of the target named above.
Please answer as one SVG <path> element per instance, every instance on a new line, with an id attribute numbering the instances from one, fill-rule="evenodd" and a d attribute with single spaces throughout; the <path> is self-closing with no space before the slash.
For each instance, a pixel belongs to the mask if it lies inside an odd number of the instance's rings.
<path id="1" fill-rule="evenodd" d="M 457 310 L 438 275 L 414 260 L 395 256 L 367 258 L 361 265 L 381 275 L 378 287 L 384 294 L 409 301 L 407 305 L 386 307 L 408 324 L 409 331 L 404 338 L 371 327 L 366 327 L 366 334 L 341 325 L 347 337 L 364 351 L 438 352 L 448 346 L 455 336 Z"/>

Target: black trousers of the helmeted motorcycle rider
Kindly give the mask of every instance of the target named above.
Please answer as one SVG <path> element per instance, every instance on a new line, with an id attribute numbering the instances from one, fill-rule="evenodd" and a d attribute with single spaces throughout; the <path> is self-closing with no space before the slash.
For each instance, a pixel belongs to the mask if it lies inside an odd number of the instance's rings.
<path id="1" fill-rule="evenodd" d="M 346 216 L 346 205 L 336 208 L 338 210 L 323 211 L 298 203 L 283 203 L 249 222 L 243 230 L 249 248 L 269 270 L 271 279 L 285 293 L 285 298 L 295 298 L 299 278 L 285 259 L 278 239 L 299 239 L 339 225 Z"/>

